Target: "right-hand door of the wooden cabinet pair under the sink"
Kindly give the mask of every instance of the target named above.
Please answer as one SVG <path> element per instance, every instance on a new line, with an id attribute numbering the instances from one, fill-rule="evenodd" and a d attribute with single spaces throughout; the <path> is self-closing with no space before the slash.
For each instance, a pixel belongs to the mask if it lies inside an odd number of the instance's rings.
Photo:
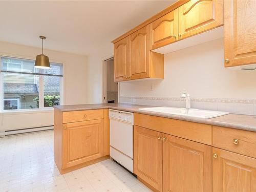
<path id="1" fill-rule="evenodd" d="M 211 146 L 164 137 L 163 191 L 211 191 Z"/>

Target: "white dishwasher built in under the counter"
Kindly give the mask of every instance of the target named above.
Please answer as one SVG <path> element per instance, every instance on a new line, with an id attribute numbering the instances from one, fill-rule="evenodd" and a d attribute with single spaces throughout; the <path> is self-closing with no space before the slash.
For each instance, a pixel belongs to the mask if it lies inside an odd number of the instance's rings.
<path id="1" fill-rule="evenodd" d="M 110 156 L 133 173 L 133 125 L 131 112 L 109 110 Z"/>

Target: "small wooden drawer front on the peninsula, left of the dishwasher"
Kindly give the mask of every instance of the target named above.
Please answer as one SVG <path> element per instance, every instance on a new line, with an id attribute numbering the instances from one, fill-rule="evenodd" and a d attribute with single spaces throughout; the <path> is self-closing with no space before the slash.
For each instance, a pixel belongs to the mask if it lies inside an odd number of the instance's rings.
<path id="1" fill-rule="evenodd" d="M 62 113 L 62 122 L 70 123 L 93 119 L 103 119 L 103 110 L 69 111 Z"/>

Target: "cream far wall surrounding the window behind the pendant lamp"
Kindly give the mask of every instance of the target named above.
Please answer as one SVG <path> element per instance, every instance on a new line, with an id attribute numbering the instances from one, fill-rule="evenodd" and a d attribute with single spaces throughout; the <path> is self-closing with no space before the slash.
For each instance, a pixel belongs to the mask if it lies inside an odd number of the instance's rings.
<path id="1" fill-rule="evenodd" d="M 87 101 L 87 57 L 45 50 L 50 62 L 63 63 L 63 104 L 84 104 Z M 40 48 L 0 42 L 0 55 L 35 59 Z M 0 131 L 53 125 L 53 112 L 0 113 Z"/>

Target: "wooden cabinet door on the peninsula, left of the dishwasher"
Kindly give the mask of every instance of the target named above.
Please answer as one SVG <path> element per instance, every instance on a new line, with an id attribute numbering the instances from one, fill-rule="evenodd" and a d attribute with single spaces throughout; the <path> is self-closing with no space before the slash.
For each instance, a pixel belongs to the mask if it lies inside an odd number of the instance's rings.
<path id="1" fill-rule="evenodd" d="M 103 119 L 63 124 L 63 167 L 103 156 Z"/>

